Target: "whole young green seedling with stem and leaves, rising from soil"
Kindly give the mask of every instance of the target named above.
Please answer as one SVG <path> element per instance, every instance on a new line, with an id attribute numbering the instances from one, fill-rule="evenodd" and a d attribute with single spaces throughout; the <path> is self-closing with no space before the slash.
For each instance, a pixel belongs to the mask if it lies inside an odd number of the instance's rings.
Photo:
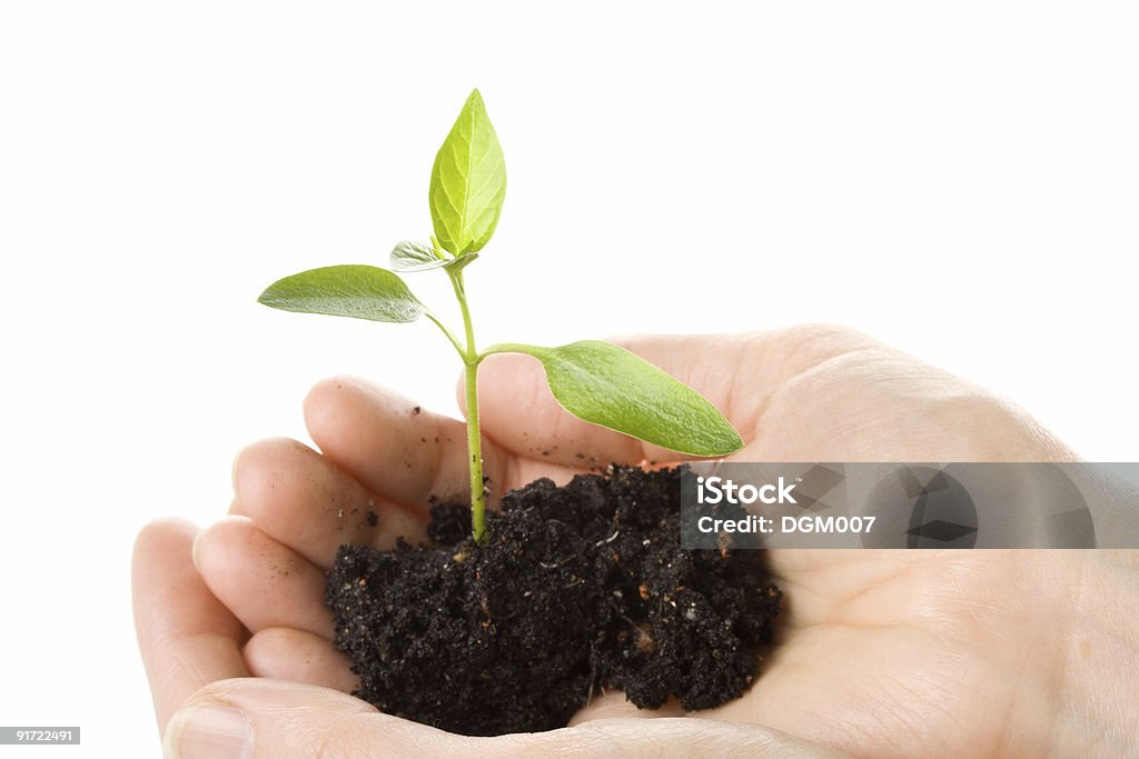
<path id="1" fill-rule="evenodd" d="M 583 340 L 555 348 L 501 343 L 482 350 L 467 305 L 464 270 L 490 241 L 506 198 L 502 147 L 474 90 L 435 156 L 431 172 L 431 242 L 400 242 L 391 267 L 399 272 L 441 269 L 450 278 L 462 314 L 462 336 L 425 306 L 403 280 L 377 266 L 313 269 L 273 282 L 260 303 L 312 314 L 377 322 L 431 320 L 465 368 L 467 462 L 474 537 L 486 535 L 486 489 L 478 428 L 478 364 L 495 353 L 524 353 L 546 369 L 554 397 L 574 416 L 679 453 L 721 456 L 743 446 L 727 419 L 691 388 L 653 364 L 608 343 Z"/>

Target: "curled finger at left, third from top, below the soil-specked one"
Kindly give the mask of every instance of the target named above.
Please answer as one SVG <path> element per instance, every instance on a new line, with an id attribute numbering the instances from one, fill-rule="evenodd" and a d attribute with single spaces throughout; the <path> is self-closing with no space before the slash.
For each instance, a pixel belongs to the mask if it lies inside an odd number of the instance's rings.
<path id="1" fill-rule="evenodd" d="M 194 564 L 251 633 L 294 627 L 331 640 L 325 572 L 247 517 L 227 517 L 202 530 L 194 542 Z"/>

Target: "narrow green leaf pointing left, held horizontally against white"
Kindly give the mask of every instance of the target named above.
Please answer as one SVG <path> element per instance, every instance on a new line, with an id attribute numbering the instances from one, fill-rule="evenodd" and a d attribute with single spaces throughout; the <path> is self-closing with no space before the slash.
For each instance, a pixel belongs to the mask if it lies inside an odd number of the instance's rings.
<path id="1" fill-rule="evenodd" d="M 399 277 L 377 266 L 325 266 L 270 284 L 257 303 L 281 311 L 413 322 L 427 307 Z"/>

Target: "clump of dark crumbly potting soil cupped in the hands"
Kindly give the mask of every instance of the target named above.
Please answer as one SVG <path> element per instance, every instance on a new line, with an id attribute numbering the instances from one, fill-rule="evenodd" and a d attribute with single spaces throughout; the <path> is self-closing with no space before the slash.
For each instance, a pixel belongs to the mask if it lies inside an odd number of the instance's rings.
<path id="1" fill-rule="evenodd" d="M 680 547 L 680 469 L 540 479 L 503 497 L 477 547 L 466 505 L 432 517 L 435 545 L 343 545 L 328 579 L 355 694 L 385 712 L 466 735 L 546 731 L 605 687 L 696 710 L 757 674 L 782 594 L 762 552 Z"/>

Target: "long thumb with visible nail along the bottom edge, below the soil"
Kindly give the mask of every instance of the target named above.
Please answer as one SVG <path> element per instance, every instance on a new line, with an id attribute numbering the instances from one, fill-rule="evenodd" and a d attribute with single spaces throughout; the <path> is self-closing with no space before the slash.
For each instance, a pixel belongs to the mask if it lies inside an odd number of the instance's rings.
<path id="1" fill-rule="evenodd" d="M 339 691 L 264 678 L 202 688 L 174 715 L 163 744 L 178 759 L 844 756 L 767 727 L 698 718 L 598 719 L 548 733 L 464 737 L 380 713 Z"/>

